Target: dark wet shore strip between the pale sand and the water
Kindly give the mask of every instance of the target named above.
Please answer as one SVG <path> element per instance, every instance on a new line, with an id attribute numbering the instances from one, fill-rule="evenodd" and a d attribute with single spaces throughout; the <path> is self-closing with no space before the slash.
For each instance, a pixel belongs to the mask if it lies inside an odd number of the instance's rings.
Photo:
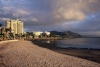
<path id="1" fill-rule="evenodd" d="M 35 45 L 38 45 L 39 47 L 47 48 L 52 51 L 79 57 L 82 59 L 90 60 L 96 63 L 100 63 L 100 49 L 88 49 L 88 48 L 60 48 L 53 44 L 49 43 L 41 43 L 38 40 L 31 40 Z"/>

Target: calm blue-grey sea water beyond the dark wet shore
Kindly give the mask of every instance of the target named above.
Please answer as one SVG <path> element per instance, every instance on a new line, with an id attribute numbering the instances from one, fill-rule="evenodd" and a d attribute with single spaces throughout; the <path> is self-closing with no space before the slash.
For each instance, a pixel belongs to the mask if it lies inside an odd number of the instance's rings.
<path id="1" fill-rule="evenodd" d="M 100 49 L 100 38 L 75 38 L 68 40 L 57 40 L 56 46 L 61 48 L 93 48 Z"/>

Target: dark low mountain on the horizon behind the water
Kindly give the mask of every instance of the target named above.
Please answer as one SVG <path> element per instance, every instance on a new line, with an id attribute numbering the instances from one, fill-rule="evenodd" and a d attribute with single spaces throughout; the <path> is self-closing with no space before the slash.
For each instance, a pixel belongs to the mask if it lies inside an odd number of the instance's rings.
<path id="1" fill-rule="evenodd" d="M 64 31 L 64 32 L 58 32 L 58 31 L 50 31 L 51 36 L 61 36 L 63 38 L 79 38 L 81 37 L 80 34 L 74 33 L 71 31 Z"/>

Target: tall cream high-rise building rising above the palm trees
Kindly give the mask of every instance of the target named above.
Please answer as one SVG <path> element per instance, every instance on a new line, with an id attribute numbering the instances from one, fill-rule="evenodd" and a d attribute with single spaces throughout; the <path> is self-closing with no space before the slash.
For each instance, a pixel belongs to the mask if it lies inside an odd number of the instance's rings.
<path id="1" fill-rule="evenodd" d="M 6 27 L 11 29 L 14 34 L 23 34 L 23 22 L 17 20 L 7 20 Z"/>

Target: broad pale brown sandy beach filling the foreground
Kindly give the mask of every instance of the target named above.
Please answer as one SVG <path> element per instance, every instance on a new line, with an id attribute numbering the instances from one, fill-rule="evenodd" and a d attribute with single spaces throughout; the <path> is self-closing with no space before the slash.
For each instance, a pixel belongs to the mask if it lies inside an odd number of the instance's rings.
<path id="1" fill-rule="evenodd" d="M 0 67 L 100 67 L 99 63 L 57 53 L 31 41 L 9 42 L 0 46 Z"/>

